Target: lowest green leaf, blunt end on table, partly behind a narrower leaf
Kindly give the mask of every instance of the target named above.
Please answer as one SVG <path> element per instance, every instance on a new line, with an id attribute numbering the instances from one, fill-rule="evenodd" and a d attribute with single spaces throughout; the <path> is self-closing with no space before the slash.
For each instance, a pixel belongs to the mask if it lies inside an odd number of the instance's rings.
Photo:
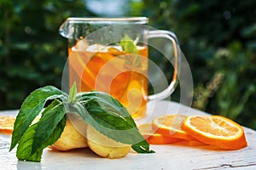
<path id="1" fill-rule="evenodd" d="M 55 127 L 55 130 L 50 134 L 45 143 L 32 153 L 32 145 L 34 143 L 34 135 L 38 127 L 38 123 L 29 127 L 20 139 L 20 143 L 17 148 L 16 156 L 20 161 L 41 161 L 41 156 L 45 147 L 54 144 L 57 139 L 60 138 L 61 133 L 66 126 L 67 116 L 61 119 L 61 122 Z"/>

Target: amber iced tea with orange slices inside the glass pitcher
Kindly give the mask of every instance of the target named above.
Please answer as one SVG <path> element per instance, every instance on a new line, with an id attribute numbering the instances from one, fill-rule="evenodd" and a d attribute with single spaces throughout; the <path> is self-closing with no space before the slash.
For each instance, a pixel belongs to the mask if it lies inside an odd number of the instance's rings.
<path id="1" fill-rule="evenodd" d="M 120 46 L 93 44 L 84 48 L 81 43 L 83 41 L 69 49 L 69 84 L 81 78 L 80 91 L 107 92 L 132 116 L 143 116 L 148 96 L 148 61 L 144 59 L 148 58 L 148 48 L 137 46 L 139 63 L 135 67 L 131 65 L 133 54 L 126 53 Z"/>

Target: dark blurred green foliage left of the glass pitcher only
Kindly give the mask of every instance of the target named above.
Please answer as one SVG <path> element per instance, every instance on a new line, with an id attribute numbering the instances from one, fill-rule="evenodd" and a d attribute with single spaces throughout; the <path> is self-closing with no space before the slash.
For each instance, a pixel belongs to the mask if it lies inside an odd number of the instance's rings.
<path id="1" fill-rule="evenodd" d="M 59 33 L 71 15 L 92 15 L 83 1 L 0 0 L 0 110 L 18 109 L 34 89 L 61 87 L 67 40 Z"/>

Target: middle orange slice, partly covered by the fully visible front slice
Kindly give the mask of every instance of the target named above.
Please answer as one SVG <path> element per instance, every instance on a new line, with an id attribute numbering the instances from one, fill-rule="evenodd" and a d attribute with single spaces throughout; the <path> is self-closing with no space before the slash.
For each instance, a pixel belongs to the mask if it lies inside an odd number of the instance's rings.
<path id="1" fill-rule="evenodd" d="M 158 116 L 154 118 L 152 122 L 152 128 L 157 133 L 169 137 L 177 139 L 196 140 L 195 138 L 190 136 L 189 133 L 186 133 L 180 128 L 186 117 L 187 116 L 183 116 L 180 114 Z"/>

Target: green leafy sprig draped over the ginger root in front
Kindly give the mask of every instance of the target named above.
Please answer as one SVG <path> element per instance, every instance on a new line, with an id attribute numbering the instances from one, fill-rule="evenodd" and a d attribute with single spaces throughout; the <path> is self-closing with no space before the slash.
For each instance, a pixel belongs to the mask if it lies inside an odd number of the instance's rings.
<path id="1" fill-rule="evenodd" d="M 75 84 L 69 95 L 46 86 L 27 96 L 15 120 L 10 150 L 18 144 L 16 156 L 19 160 L 41 161 L 44 148 L 60 138 L 66 126 L 67 112 L 79 114 L 84 122 L 109 138 L 131 144 L 137 153 L 154 152 L 149 150 L 148 142 L 118 100 L 96 91 L 77 94 Z M 41 118 L 32 125 L 38 115 Z"/>

